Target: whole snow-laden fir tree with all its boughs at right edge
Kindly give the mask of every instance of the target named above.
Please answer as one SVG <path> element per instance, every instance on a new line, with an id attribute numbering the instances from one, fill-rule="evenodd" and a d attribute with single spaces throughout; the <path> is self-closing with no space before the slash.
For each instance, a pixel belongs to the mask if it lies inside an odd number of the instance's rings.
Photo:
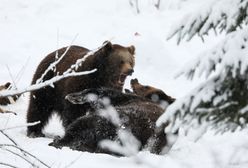
<path id="1" fill-rule="evenodd" d="M 206 82 L 177 100 L 157 124 L 170 121 L 171 129 L 204 124 L 217 131 L 235 131 L 248 123 L 248 0 L 205 1 L 176 25 L 169 38 L 202 39 L 210 31 L 225 38 L 182 70 L 189 79 L 206 76 Z"/>

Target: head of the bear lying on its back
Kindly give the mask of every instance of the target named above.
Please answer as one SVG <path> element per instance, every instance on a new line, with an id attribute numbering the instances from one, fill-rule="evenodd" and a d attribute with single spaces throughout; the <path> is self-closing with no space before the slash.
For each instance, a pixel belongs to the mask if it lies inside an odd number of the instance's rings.
<path id="1" fill-rule="evenodd" d="M 174 98 L 168 96 L 160 89 L 157 89 L 152 86 L 146 86 L 140 84 L 138 79 L 132 79 L 130 83 L 133 92 L 141 97 L 146 97 L 156 103 L 161 103 L 161 101 L 166 101 L 168 104 L 171 104 L 175 101 Z"/>

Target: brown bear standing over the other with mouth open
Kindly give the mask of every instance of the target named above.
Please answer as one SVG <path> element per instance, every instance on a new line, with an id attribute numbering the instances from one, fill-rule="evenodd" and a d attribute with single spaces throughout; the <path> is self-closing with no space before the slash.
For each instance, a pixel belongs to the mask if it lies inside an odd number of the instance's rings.
<path id="1" fill-rule="evenodd" d="M 34 74 L 32 84 L 35 84 L 41 78 L 49 65 L 65 53 L 66 49 L 67 47 L 54 51 L 41 61 Z M 49 70 L 42 80 L 49 80 L 57 74 L 63 74 L 88 52 L 89 50 L 84 47 L 71 46 L 64 58 L 53 70 Z M 72 105 L 65 101 L 65 96 L 69 93 L 100 87 L 121 91 L 126 77 L 134 71 L 134 54 L 134 46 L 123 47 L 105 42 L 104 47 L 87 57 L 76 70 L 81 72 L 97 69 L 96 72 L 79 77 L 69 77 L 55 83 L 53 86 L 32 91 L 27 112 L 27 122 L 40 121 L 40 124 L 28 126 L 27 135 L 30 137 L 44 136 L 42 129 L 47 124 L 52 112 L 57 112 L 61 116 L 64 127 L 67 127 L 79 116 L 84 115 L 89 105 Z"/>

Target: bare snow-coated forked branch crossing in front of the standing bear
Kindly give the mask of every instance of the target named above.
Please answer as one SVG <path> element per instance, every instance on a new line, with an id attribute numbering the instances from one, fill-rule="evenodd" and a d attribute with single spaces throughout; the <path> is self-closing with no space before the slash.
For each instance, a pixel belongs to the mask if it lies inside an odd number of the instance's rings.
<path id="1" fill-rule="evenodd" d="M 19 94 L 22 94 L 22 93 L 26 93 L 26 92 L 30 92 L 30 91 L 34 91 L 34 90 L 38 90 L 38 89 L 41 89 L 43 87 L 46 87 L 46 86 L 53 86 L 53 84 L 55 82 L 58 82 L 62 79 L 65 79 L 65 78 L 68 78 L 68 77 L 76 77 L 76 76 L 81 76 L 81 75 L 88 75 L 88 74 L 91 74 L 91 73 L 94 73 L 97 71 L 97 69 L 93 69 L 93 70 L 90 70 L 90 71 L 83 71 L 83 72 L 76 72 L 77 68 L 81 66 L 81 64 L 88 58 L 90 57 L 91 55 L 95 54 L 97 51 L 101 50 L 107 43 L 104 43 L 102 46 L 100 46 L 99 48 L 95 49 L 95 50 L 92 50 L 92 51 L 89 51 L 83 58 L 81 59 L 78 59 L 76 61 L 75 64 L 71 65 L 70 68 L 68 68 L 63 74 L 61 75 L 57 75 L 49 80 L 46 80 L 46 81 L 43 81 L 42 78 L 40 78 L 36 84 L 33 84 L 33 85 L 30 85 L 26 88 L 22 88 L 22 89 L 18 89 L 18 90 L 3 90 L 0 92 L 0 97 L 6 97 L 6 96 L 13 96 L 13 95 L 19 95 Z M 64 55 L 66 55 L 67 51 L 69 50 L 70 47 L 67 47 L 66 51 L 63 53 L 63 55 L 61 57 L 64 57 Z M 51 64 L 51 66 L 49 66 L 49 70 L 52 70 L 56 64 L 59 63 L 61 59 L 58 59 L 55 61 L 55 63 Z M 47 71 L 45 71 L 44 74 L 46 74 Z M 43 77 L 45 75 L 42 75 Z"/>

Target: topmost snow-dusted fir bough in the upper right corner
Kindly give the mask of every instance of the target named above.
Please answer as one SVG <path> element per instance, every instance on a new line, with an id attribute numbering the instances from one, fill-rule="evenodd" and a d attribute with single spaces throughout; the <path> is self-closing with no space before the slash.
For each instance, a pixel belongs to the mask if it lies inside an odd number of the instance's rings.
<path id="1" fill-rule="evenodd" d="M 247 24 L 248 0 L 211 0 L 198 11 L 183 17 L 169 32 L 170 39 L 177 34 L 178 44 L 182 39 L 191 40 L 196 34 L 203 38 L 209 30 L 222 32 L 235 31 Z"/>

